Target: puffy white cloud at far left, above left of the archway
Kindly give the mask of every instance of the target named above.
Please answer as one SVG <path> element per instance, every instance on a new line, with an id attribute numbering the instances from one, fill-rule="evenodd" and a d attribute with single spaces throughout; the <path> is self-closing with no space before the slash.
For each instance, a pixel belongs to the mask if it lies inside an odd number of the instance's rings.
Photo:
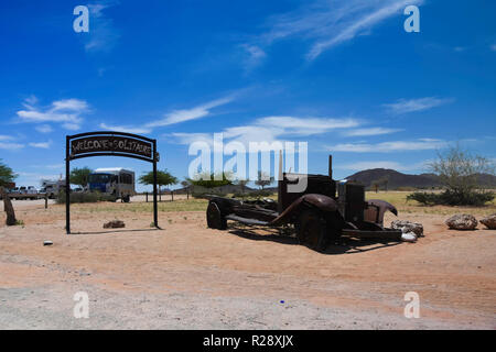
<path id="1" fill-rule="evenodd" d="M 20 122 L 58 122 L 66 130 L 78 130 L 83 123 L 80 114 L 89 111 L 88 103 L 79 99 L 56 100 L 43 109 L 33 105 L 33 99 L 29 98 L 23 106 L 24 110 L 17 112 Z"/>

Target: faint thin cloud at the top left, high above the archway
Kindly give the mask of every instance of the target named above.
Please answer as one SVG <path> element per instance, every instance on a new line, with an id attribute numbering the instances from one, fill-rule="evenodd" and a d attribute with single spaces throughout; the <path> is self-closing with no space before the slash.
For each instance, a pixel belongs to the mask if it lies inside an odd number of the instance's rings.
<path id="1" fill-rule="evenodd" d="M 104 14 L 104 10 L 118 4 L 117 1 L 101 1 L 88 4 L 89 33 L 85 43 L 86 52 L 109 52 L 120 37 L 114 21 Z"/>

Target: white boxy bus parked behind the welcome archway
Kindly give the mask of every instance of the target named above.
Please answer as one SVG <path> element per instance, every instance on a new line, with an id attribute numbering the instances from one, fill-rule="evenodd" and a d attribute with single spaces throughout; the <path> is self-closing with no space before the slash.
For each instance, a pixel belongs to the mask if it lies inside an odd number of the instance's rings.
<path id="1" fill-rule="evenodd" d="M 121 167 L 97 168 L 89 175 L 89 190 L 111 195 L 116 199 L 129 202 L 136 195 L 134 172 Z"/>

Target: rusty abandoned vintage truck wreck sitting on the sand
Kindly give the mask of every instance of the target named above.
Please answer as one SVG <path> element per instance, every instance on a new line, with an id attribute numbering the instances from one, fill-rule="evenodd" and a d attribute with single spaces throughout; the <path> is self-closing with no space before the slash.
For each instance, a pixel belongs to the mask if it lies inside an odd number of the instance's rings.
<path id="1" fill-rule="evenodd" d="M 386 211 L 398 215 L 392 205 L 378 199 L 366 201 L 363 185 L 334 180 L 332 156 L 328 170 L 328 176 L 280 173 L 278 201 L 209 197 L 208 228 L 226 230 L 227 220 L 262 227 L 292 224 L 299 242 L 319 252 L 342 235 L 400 240 L 400 230 L 384 227 Z M 306 189 L 288 191 L 288 185 L 296 184 L 300 177 L 308 178 Z"/>

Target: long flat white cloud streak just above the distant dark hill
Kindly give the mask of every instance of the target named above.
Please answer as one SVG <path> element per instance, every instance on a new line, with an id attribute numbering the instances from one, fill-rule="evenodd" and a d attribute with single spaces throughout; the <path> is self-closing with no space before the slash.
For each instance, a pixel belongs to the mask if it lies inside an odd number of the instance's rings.
<path id="1" fill-rule="evenodd" d="M 390 153 L 407 151 L 428 151 L 442 148 L 448 142 L 434 139 L 419 139 L 414 141 L 393 141 L 377 144 L 369 143 L 343 143 L 327 146 L 331 152 L 349 152 L 349 153 Z"/>

